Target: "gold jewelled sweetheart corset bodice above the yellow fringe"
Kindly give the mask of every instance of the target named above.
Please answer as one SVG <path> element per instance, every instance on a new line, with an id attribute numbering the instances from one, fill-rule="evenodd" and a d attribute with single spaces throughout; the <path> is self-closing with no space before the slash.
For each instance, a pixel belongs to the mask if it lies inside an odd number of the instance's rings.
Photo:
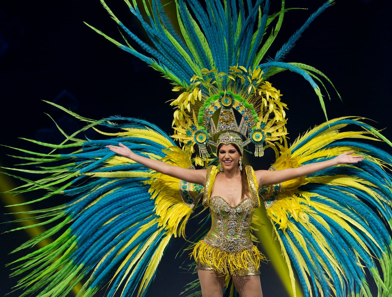
<path id="1" fill-rule="evenodd" d="M 234 207 L 220 196 L 211 197 L 209 202 L 212 221 L 205 243 L 228 253 L 251 249 L 252 199 L 245 198 Z"/>

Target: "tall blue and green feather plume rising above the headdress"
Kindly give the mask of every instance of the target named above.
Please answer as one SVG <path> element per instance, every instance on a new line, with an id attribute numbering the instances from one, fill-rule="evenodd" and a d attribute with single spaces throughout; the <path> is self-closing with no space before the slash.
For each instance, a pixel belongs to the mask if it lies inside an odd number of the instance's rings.
<path id="1" fill-rule="evenodd" d="M 281 11 L 269 15 L 269 0 L 258 0 L 254 4 L 252 1 L 246 1 L 246 4 L 244 4 L 242 1 L 225 0 L 221 2 L 214 0 L 206 2 L 206 5 L 201 5 L 198 1 L 190 1 L 185 4 L 185 0 L 176 0 L 178 24 L 180 25 L 182 35 L 178 36 L 178 34 L 174 33 L 171 25 L 166 25 L 170 24 L 170 21 L 165 15 L 159 0 L 151 1 L 151 11 L 145 2 L 139 8 L 136 2 L 131 3 L 127 0 L 126 3 L 131 13 L 140 21 L 152 42 L 150 47 L 131 33 L 102 0 L 104 7 L 125 33 L 138 43 L 144 51 L 151 54 L 151 60 L 147 60 L 147 56 L 140 56 L 140 58 L 165 74 L 167 78 L 173 80 L 176 84 L 184 88 L 189 87 L 190 79 L 194 75 L 202 76 L 202 69 L 215 69 L 216 72 L 214 73 L 221 75 L 221 73 L 228 73 L 229 67 L 235 65 L 252 70 L 261 68 L 265 72 L 264 77 L 270 77 L 280 71 L 291 70 L 309 81 L 318 95 L 321 107 L 325 113 L 323 98 L 316 81 L 321 85 L 323 83 L 315 75 L 321 75 L 322 78 L 326 77 L 318 72 L 317 69 L 307 65 L 299 63 L 294 65 L 280 61 L 298 40 L 303 30 L 332 2 L 326 2 L 318 11 L 313 13 L 282 49 L 278 51 L 274 59 L 261 63 L 261 59 L 265 56 L 279 32 L 283 15 L 289 10 L 284 7 L 284 1 L 282 1 Z M 149 22 L 143 19 L 140 9 L 143 9 Z M 272 22 L 276 18 L 278 20 L 276 25 L 273 26 Z M 271 28 L 269 36 L 265 43 L 262 44 L 263 36 L 268 34 L 267 28 L 269 27 Z M 119 45 L 122 49 L 139 56 L 129 43 L 122 45 L 107 36 L 105 37 Z M 328 78 L 326 79 L 328 80 Z M 222 88 L 230 88 L 230 90 L 233 90 L 234 87 L 241 91 L 249 87 L 249 82 L 247 81 L 244 83 L 238 80 L 233 84 L 229 76 L 222 79 L 221 76 L 217 75 L 215 80 L 217 83 L 219 81 Z M 200 87 L 201 89 L 204 88 L 203 85 Z M 203 92 L 208 94 L 208 90 L 203 90 Z"/>

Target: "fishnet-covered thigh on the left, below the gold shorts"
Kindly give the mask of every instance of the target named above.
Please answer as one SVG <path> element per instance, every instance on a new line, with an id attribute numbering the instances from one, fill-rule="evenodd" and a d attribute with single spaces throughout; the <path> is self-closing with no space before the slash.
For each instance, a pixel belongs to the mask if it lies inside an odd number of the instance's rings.
<path id="1" fill-rule="evenodd" d="M 201 294 L 203 297 L 222 297 L 225 276 L 220 276 L 214 270 L 198 269 L 197 274 L 200 280 Z"/>

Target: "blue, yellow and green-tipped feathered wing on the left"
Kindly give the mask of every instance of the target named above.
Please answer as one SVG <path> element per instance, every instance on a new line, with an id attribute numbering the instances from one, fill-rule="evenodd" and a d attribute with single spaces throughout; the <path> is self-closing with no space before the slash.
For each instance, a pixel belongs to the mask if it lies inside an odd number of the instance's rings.
<path id="1" fill-rule="evenodd" d="M 54 220 L 59 223 L 16 250 L 33 247 L 52 235 L 58 238 L 11 263 L 18 264 L 13 275 L 27 274 L 16 289 L 24 290 L 21 296 L 65 296 L 84 282 L 78 296 L 92 296 L 109 282 L 107 296 L 116 291 L 121 291 L 121 296 L 134 292 L 143 296 L 171 237 L 183 235 L 197 203 L 198 186 L 183 188 L 181 200 L 178 179 L 115 156 L 105 146 L 122 142 L 137 154 L 186 168 L 191 166 L 191 160 L 162 130 L 147 121 L 77 117 L 87 122 L 78 132 L 94 129 L 107 139 L 85 141 L 77 139 L 75 133 L 66 136 L 67 142 L 62 145 L 38 143 L 56 151 L 76 148 L 72 153 L 34 157 L 36 154 L 29 152 L 33 155 L 29 165 L 61 165 L 29 170 L 47 177 L 25 180 L 26 184 L 14 192 L 45 189 L 47 195 L 36 201 L 54 194 L 73 199 L 58 207 L 30 212 L 45 220 L 41 225 Z M 66 229 L 59 235 L 62 228 Z"/>

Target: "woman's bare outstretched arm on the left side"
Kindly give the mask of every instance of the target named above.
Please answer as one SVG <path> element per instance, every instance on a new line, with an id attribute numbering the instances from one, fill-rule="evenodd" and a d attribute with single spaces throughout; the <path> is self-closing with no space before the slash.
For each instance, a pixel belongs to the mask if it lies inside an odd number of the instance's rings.
<path id="1" fill-rule="evenodd" d="M 109 148 L 111 151 L 115 152 L 116 154 L 129 158 L 137 163 L 144 165 L 145 167 L 151 168 L 152 170 L 158 171 L 168 176 L 176 177 L 183 181 L 196 183 L 198 185 L 204 185 L 205 183 L 205 177 L 207 174 L 207 170 L 205 169 L 192 170 L 192 169 L 172 166 L 162 161 L 146 158 L 138 154 L 135 154 L 134 152 L 132 152 L 132 150 L 130 150 L 122 143 L 119 143 L 118 145 L 119 146 L 107 145 L 107 148 Z"/>

